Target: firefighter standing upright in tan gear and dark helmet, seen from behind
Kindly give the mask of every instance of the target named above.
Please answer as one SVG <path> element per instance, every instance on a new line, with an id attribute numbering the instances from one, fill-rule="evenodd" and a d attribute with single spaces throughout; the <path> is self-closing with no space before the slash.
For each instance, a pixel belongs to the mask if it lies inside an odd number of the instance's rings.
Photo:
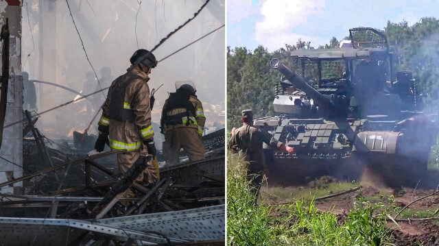
<path id="1" fill-rule="evenodd" d="M 126 173 L 140 156 L 152 155 L 152 167 L 148 165 L 137 178 L 138 181 L 152 184 L 159 176 L 151 121 L 150 88 L 147 82 L 157 61 L 150 51 L 139 49 L 134 52 L 130 62 L 138 66 L 131 65 L 128 72 L 115 79 L 108 89 L 98 123 L 99 137 L 95 149 L 101 152 L 107 143 L 111 149 L 128 150 L 117 154 L 119 173 Z M 144 174 L 147 174 L 145 179 Z"/>

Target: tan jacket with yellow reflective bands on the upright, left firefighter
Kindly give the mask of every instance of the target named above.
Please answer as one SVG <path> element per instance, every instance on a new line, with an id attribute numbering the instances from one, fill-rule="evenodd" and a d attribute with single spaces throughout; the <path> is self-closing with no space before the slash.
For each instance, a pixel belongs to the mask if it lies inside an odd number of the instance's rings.
<path id="1" fill-rule="evenodd" d="M 130 69 L 112 82 L 98 125 L 99 131 L 108 130 L 112 149 L 137 151 L 142 140 L 154 136 L 147 84 L 150 78 L 137 66 Z"/>

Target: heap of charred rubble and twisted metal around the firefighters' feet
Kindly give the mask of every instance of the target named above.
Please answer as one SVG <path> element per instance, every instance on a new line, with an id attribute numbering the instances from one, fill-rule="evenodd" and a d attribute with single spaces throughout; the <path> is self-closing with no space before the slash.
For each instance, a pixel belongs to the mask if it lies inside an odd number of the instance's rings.
<path id="1" fill-rule="evenodd" d="M 34 127 L 37 119 L 24 112 L 27 173 L 0 184 L 23 182 L 25 194 L 0 190 L 0 236 L 13 230 L 7 240 L 14 245 L 224 244 L 224 129 L 203 137 L 205 160 L 189 163 L 182 156 L 172 166 L 162 161 L 161 181 L 144 185 L 134 180 L 151 156 L 120 176 L 115 154 L 125 150 L 87 154 L 78 146 L 82 135 L 75 139 L 78 149 L 69 144 L 60 145 L 65 151 L 52 149 Z M 158 158 L 163 160 L 161 152 Z M 135 197 L 123 197 L 130 188 Z"/>

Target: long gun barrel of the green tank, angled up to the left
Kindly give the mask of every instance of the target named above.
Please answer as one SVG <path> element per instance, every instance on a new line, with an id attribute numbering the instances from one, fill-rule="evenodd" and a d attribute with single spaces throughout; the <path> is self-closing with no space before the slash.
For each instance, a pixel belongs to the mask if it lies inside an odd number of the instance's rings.
<path id="1" fill-rule="evenodd" d="M 281 72 L 285 77 L 287 77 L 288 81 L 292 84 L 292 86 L 302 90 L 307 96 L 311 97 L 316 103 L 324 110 L 329 108 L 329 99 L 324 97 L 324 95 L 320 94 L 316 89 L 310 86 L 305 80 L 289 70 L 281 61 L 274 58 L 270 65 L 273 69 Z"/>

